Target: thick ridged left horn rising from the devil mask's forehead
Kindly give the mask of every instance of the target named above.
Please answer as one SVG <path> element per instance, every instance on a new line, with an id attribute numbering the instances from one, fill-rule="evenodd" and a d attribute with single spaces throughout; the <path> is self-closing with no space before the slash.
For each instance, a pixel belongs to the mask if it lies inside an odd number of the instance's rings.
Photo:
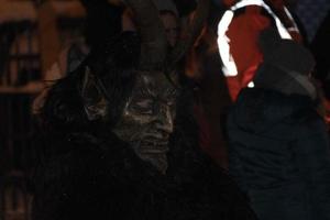
<path id="1" fill-rule="evenodd" d="M 133 10 L 141 34 L 140 68 L 162 68 L 165 65 L 167 41 L 158 10 L 152 0 L 125 0 Z"/>

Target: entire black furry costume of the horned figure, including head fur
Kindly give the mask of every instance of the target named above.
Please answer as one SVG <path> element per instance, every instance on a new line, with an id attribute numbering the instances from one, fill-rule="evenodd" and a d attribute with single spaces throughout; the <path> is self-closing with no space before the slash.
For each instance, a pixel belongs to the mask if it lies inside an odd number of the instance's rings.
<path id="1" fill-rule="evenodd" d="M 178 96 L 166 174 L 112 132 L 134 88 L 136 48 L 136 36 L 123 33 L 50 90 L 33 219 L 255 219 L 231 178 L 199 150 L 189 89 Z"/>

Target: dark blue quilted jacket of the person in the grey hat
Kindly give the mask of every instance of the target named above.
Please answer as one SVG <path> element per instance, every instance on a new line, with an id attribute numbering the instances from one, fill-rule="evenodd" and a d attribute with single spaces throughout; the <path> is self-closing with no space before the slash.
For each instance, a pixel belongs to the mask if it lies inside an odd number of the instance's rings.
<path id="1" fill-rule="evenodd" d="M 328 134 L 308 97 L 243 89 L 228 134 L 230 173 L 261 220 L 330 219 Z"/>

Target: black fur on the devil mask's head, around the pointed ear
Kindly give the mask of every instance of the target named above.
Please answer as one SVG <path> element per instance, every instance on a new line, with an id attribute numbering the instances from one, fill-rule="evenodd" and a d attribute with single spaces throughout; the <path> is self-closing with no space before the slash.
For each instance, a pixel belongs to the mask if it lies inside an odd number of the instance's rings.
<path id="1" fill-rule="evenodd" d="M 134 69 L 139 63 L 140 42 L 136 34 L 124 32 L 109 41 L 103 47 L 95 48 L 82 64 L 67 77 L 59 79 L 50 90 L 40 118 L 43 129 L 68 133 L 90 131 L 94 124 L 84 110 L 80 87 L 86 67 L 97 75 L 107 87 L 110 111 L 108 124 L 112 127 L 121 114 L 125 97 L 134 84 Z"/>

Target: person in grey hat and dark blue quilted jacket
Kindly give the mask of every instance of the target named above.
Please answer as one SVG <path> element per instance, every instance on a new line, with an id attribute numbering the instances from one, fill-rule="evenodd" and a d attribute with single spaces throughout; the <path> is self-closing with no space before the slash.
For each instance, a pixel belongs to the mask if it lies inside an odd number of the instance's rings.
<path id="1" fill-rule="evenodd" d="M 330 219 L 330 147 L 312 54 L 262 33 L 264 61 L 228 120 L 229 172 L 262 220 Z"/>

